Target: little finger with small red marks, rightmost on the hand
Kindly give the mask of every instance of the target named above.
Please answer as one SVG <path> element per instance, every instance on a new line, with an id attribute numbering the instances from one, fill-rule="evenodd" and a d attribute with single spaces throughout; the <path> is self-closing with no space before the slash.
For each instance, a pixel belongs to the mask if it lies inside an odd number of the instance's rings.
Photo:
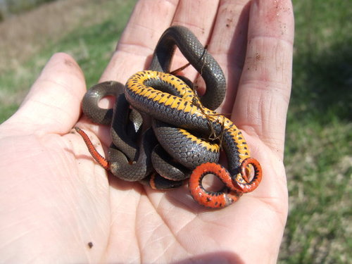
<path id="1" fill-rule="evenodd" d="M 282 156 L 291 92 L 291 1 L 253 1 L 244 69 L 232 111 L 237 125 Z"/>

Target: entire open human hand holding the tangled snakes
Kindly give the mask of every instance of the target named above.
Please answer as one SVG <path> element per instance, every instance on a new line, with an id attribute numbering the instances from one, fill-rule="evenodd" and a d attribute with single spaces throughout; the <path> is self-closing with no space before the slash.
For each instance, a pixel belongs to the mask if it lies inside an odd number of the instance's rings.
<path id="1" fill-rule="evenodd" d="M 82 71 L 70 56 L 56 54 L 20 109 L 0 126 L 2 260 L 275 263 L 287 218 L 282 159 L 291 2 L 139 1 L 101 81 L 125 82 L 147 68 L 158 38 L 174 23 L 208 43 L 222 66 L 228 90 L 218 111 L 232 113 L 260 161 L 258 189 L 232 206 L 207 210 L 187 187 L 154 191 L 107 175 L 71 131 L 78 120 L 95 144 L 101 139 L 106 147 L 108 128 L 80 118 Z M 174 62 L 175 68 L 184 65 L 180 54 Z M 196 77 L 191 68 L 184 73 Z"/>

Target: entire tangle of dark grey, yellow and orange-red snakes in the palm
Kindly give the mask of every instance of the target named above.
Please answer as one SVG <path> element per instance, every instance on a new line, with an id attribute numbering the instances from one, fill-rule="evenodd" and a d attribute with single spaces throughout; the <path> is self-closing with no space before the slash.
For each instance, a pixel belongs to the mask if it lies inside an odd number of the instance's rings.
<path id="1" fill-rule="evenodd" d="M 176 47 L 206 82 L 203 96 L 196 94 L 187 78 L 170 74 Z M 125 86 L 119 82 L 104 82 L 96 84 L 84 95 L 84 114 L 94 122 L 111 125 L 113 144 L 108 152 L 109 161 L 97 153 L 87 134 L 76 128 L 96 161 L 123 180 L 147 182 L 155 189 L 179 187 L 182 180 L 190 177 L 191 195 L 208 208 L 228 206 L 241 194 L 256 189 L 262 177 L 260 164 L 251 158 L 241 131 L 228 118 L 214 111 L 225 96 L 225 76 L 194 34 L 182 26 L 165 30 L 149 69 L 132 75 Z M 99 100 L 107 95 L 116 97 L 114 108 L 99 108 Z M 143 120 L 149 119 L 146 114 L 152 118 L 149 121 L 153 131 L 147 127 L 137 146 L 135 142 Z M 196 136 L 209 137 L 210 130 L 216 143 Z M 220 147 L 227 156 L 227 169 L 217 163 Z M 154 171 L 152 163 L 161 169 Z M 170 163 L 173 163 L 171 167 L 166 168 L 165 164 Z M 175 164 L 180 166 L 177 168 Z M 251 180 L 250 167 L 254 171 Z M 170 168 L 176 171 L 171 175 L 177 176 L 165 176 L 165 171 L 170 174 Z M 208 174 L 219 177 L 224 189 L 207 191 L 202 180 Z"/>

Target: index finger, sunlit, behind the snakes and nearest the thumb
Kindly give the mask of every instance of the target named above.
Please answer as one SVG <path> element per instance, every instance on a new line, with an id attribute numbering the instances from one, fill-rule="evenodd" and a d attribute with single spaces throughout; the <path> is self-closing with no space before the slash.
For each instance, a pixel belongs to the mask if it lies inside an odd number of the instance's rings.
<path id="1" fill-rule="evenodd" d="M 102 81 L 125 83 L 132 74 L 148 67 L 147 58 L 151 58 L 159 37 L 170 26 L 177 4 L 177 0 L 137 2 Z"/>

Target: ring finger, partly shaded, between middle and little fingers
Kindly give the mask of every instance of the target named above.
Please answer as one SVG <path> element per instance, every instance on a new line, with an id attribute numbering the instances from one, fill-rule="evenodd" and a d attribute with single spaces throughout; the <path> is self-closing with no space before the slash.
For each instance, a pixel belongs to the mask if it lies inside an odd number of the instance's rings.
<path id="1" fill-rule="evenodd" d="M 220 1 L 211 42 L 210 54 L 220 64 L 227 80 L 227 92 L 220 113 L 231 113 L 239 78 L 244 65 L 250 1 Z"/>

